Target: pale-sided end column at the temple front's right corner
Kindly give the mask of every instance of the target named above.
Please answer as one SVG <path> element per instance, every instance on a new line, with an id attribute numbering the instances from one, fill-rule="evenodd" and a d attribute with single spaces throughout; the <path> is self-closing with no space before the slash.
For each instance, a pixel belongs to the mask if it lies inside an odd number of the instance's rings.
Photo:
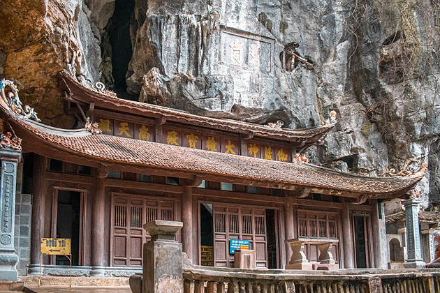
<path id="1" fill-rule="evenodd" d="M 372 206 L 374 265 L 378 269 L 388 268 L 388 243 L 386 240 L 385 214 L 381 202 L 373 200 Z"/>

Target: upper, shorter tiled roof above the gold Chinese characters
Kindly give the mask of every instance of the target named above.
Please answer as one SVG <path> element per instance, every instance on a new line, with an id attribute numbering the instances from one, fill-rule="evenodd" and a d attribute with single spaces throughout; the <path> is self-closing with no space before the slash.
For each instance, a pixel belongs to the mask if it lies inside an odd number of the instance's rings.
<path id="1" fill-rule="evenodd" d="M 83 86 L 65 71 L 59 73 L 59 77 L 60 88 L 71 93 L 72 95 L 70 98 L 73 98 L 74 100 L 78 100 L 82 103 L 94 103 L 96 107 L 103 107 L 105 109 L 117 110 L 145 117 L 163 117 L 167 119 L 167 121 L 177 121 L 179 123 L 226 130 L 234 133 L 243 133 L 246 135 L 253 133 L 260 137 L 269 137 L 293 142 L 316 142 L 322 140 L 333 127 L 333 125 L 326 125 L 292 130 L 290 128 L 271 128 L 265 125 L 232 119 L 203 117 L 182 110 L 140 103 L 133 100 L 124 100 L 115 96 L 99 93 L 98 91 Z"/>

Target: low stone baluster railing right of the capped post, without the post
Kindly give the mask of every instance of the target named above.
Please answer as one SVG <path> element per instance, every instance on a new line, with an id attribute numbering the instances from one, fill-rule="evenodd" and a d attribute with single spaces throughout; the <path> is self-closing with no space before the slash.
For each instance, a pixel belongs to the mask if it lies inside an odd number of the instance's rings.
<path id="1" fill-rule="evenodd" d="M 238 270 L 184 268 L 184 293 L 434 293 L 440 271 L 423 270 Z"/>

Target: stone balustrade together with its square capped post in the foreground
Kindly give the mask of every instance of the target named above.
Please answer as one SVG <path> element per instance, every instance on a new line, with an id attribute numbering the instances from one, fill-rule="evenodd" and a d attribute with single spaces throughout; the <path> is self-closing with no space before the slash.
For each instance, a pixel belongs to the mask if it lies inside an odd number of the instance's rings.
<path id="1" fill-rule="evenodd" d="M 156 220 L 145 228 L 143 273 L 130 278 L 135 293 L 435 293 L 440 270 L 356 269 L 300 271 L 194 266 L 175 241 L 179 222 Z M 143 276 L 143 277 L 142 277 Z"/>

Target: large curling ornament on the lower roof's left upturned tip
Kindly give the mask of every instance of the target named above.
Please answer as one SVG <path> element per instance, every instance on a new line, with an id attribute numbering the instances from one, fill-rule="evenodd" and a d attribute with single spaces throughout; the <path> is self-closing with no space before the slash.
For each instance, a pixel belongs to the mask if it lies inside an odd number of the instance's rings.
<path id="1" fill-rule="evenodd" d="M 6 91 L 6 87 L 9 88 L 9 91 Z M 10 111 L 15 114 L 19 114 L 27 119 L 31 119 L 37 122 L 41 122 L 37 117 L 37 112 L 34 111 L 34 108 L 29 107 L 29 105 L 24 105 L 20 101 L 18 97 L 18 89 L 13 81 L 10 80 L 0 80 L 0 97 L 1 104 L 9 108 Z"/>

